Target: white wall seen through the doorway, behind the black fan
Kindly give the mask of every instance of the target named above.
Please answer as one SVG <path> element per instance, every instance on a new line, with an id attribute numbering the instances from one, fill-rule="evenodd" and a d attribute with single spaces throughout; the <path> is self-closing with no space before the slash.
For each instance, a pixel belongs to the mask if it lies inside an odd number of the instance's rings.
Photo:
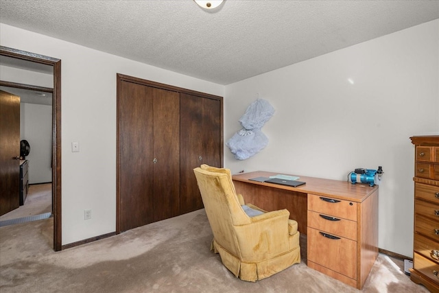
<path id="1" fill-rule="evenodd" d="M 52 106 L 20 104 L 20 139 L 29 142 L 29 184 L 52 182 Z"/>

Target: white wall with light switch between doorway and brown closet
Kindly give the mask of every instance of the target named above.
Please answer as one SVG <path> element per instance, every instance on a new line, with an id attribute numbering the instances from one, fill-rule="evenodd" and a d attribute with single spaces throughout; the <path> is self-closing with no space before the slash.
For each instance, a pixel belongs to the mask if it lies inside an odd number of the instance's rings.
<path id="1" fill-rule="evenodd" d="M 61 59 L 62 244 L 115 231 L 116 73 L 224 95 L 224 86 L 0 23 L 0 44 Z M 71 142 L 80 152 L 71 152 Z M 91 220 L 84 220 L 91 209 Z"/>

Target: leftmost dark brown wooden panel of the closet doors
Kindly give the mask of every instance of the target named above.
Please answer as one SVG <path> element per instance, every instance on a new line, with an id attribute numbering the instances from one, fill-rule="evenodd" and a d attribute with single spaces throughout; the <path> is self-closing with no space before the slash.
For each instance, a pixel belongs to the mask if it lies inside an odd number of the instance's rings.
<path id="1" fill-rule="evenodd" d="M 121 82 L 119 99 L 119 222 L 127 231 L 153 220 L 151 88 Z"/>

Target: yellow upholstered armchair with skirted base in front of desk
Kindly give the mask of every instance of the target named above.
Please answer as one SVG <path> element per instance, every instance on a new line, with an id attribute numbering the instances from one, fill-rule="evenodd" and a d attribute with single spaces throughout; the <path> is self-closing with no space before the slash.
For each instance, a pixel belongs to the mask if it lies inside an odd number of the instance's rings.
<path id="1" fill-rule="evenodd" d="M 236 277 L 256 281 L 300 263 L 297 222 L 289 211 L 263 211 L 237 195 L 229 169 L 193 169 L 213 232 L 211 249 Z"/>

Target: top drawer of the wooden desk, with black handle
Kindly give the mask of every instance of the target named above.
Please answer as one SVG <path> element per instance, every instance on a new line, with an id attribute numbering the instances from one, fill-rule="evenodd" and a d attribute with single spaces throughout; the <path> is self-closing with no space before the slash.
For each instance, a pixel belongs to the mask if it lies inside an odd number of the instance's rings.
<path id="1" fill-rule="evenodd" d="M 357 202 L 308 194 L 308 209 L 336 218 L 357 221 Z"/>

